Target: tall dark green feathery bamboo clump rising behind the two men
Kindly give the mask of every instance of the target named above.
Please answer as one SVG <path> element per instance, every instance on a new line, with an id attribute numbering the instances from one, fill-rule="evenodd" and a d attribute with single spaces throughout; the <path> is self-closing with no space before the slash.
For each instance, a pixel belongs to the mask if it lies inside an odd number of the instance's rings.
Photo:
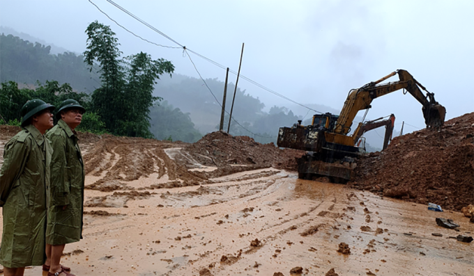
<path id="1" fill-rule="evenodd" d="M 92 22 L 86 29 L 84 62 L 92 70 L 100 65 L 102 86 L 92 95 L 93 111 L 105 122 L 109 132 L 122 136 L 151 138 L 150 108 L 160 97 L 153 97 L 153 86 L 161 74 L 174 72 L 165 59 L 153 60 L 139 54 L 121 58 L 119 40 L 109 26 Z"/>

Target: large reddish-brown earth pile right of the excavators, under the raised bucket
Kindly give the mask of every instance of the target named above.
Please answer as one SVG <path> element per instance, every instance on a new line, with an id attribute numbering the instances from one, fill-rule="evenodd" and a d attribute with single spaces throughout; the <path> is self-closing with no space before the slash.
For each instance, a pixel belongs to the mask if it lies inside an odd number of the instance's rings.
<path id="1" fill-rule="evenodd" d="M 474 202 L 474 113 L 398 136 L 354 172 L 353 188 L 459 211 Z"/>

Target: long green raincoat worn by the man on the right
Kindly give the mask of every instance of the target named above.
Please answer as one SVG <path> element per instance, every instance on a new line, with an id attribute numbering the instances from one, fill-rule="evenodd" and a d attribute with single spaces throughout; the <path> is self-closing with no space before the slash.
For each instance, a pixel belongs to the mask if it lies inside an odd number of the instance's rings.
<path id="1" fill-rule="evenodd" d="M 81 149 L 77 145 L 77 136 L 63 120 L 59 120 L 46 136 L 54 149 L 46 243 L 74 243 L 82 238 L 84 164 Z"/>

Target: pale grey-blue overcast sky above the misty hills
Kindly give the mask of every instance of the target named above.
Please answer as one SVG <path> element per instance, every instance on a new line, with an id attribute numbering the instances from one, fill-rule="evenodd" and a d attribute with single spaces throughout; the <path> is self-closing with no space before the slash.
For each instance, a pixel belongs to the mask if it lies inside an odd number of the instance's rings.
<path id="1" fill-rule="evenodd" d="M 178 47 L 106 0 L 91 0 L 109 17 L 156 44 Z M 178 74 L 224 81 L 225 70 L 183 49 L 158 47 L 128 33 L 91 1 L 0 0 L 0 26 L 82 53 L 89 23 L 112 27 L 124 55 L 139 51 L 174 63 Z M 303 105 L 340 109 L 352 88 L 397 69 L 410 72 L 445 106 L 446 119 L 474 111 L 474 1 L 151 1 L 114 0 L 170 38 Z M 397 81 L 393 76 L 390 81 Z M 235 83 L 236 75 L 229 81 Z M 271 106 L 292 106 L 254 84 L 238 86 Z M 210 94 L 209 97 L 212 97 Z M 238 103 L 236 103 L 238 104 Z M 310 111 L 310 113 L 313 113 Z M 359 115 L 363 115 L 360 111 Z M 394 113 L 396 128 L 425 127 L 421 104 L 392 92 L 372 102 L 367 119 Z M 304 115 L 304 114 L 303 114 Z"/>

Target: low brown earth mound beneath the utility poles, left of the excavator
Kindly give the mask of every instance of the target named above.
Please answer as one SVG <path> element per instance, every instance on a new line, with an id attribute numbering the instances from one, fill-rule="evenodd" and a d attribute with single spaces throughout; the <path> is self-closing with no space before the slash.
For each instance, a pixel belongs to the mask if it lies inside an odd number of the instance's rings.
<path id="1" fill-rule="evenodd" d="M 296 158 L 305 153 L 296 149 L 279 149 L 273 143 L 263 145 L 248 136 L 231 136 L 221 131 L 206 134 L 184 150 L 203 165 L 218 168 L 228 165 L 273 166 L 282 170 L 297 170 Z"/>

